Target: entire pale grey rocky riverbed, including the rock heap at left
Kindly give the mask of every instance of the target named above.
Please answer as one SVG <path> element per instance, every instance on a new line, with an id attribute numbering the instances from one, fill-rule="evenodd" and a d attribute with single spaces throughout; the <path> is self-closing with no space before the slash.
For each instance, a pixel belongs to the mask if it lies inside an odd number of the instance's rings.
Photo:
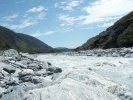
<path id="1" fill-rule="evenodd" d="M 132 51 L 0 52 L 0 100 L 133 100 Z"/>

